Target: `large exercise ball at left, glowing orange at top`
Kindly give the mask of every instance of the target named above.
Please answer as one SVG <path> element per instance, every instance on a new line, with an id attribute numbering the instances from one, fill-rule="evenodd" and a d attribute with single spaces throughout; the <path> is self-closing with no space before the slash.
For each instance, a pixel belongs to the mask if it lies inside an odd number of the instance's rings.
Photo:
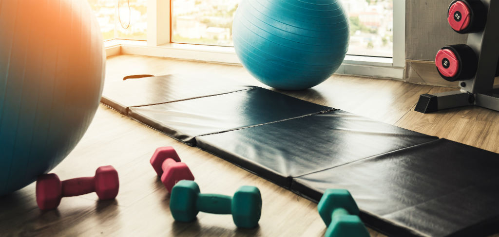
<path id="1" fill-rule="evenodd" d="M 102 93 L 102 33 L 86 0 L 0 0 L 0 196 L 64 159 Z"/>

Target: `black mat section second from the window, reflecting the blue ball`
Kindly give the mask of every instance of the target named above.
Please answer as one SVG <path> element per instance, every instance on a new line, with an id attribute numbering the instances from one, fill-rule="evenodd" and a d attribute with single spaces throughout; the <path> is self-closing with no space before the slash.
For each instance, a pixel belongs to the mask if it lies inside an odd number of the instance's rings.
<path id="1" fill-rule="evenodd" d="M 263 88 L 129 109 L 129 116 L 187 144 L 194 137 L 296 118 L 332 108 Z"/>

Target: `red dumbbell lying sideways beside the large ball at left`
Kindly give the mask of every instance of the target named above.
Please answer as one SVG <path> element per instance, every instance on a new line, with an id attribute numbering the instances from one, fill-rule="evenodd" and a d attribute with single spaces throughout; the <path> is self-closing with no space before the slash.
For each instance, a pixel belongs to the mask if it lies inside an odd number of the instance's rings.
<path id="1" fill-rule="evenodd" d="M 73 178 L 60 181 L 54 173 L 39 175 L 36 180 L 36 203 L 41 210 L 59 206 L 62 197 L 97 193 L 101 200 L 114 199 L 118 195 L 120 182 L 113 166 L 101 166 L 94 177 Z"/>

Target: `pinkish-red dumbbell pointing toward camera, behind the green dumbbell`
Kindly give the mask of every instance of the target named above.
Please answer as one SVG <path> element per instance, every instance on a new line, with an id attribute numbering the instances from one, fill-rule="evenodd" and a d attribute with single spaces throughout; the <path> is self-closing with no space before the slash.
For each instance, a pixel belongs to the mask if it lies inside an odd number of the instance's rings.
<path id="1" fill-rule="evenodd" d="M 172 192 L 173 186 L 180 180 L 194 180 L 194 175 L 186 163 L 181 162 L 179 155 L 173 147 L 160 147 L 156 149 L 151 157 L 151 165 L 161 177 L 161 182 L 168 192 Z"/>

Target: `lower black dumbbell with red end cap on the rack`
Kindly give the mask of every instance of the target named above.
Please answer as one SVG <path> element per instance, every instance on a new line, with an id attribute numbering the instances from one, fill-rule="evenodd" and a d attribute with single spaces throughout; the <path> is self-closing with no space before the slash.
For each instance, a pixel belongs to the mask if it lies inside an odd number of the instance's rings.
<path id="1" fill-rule="evenodd" d="M 470 79 L 477 73 L 478 59 L 475 51 L 466 44 L 442 48 L 435 58 L 437 70 L 449 81 Z"/>

